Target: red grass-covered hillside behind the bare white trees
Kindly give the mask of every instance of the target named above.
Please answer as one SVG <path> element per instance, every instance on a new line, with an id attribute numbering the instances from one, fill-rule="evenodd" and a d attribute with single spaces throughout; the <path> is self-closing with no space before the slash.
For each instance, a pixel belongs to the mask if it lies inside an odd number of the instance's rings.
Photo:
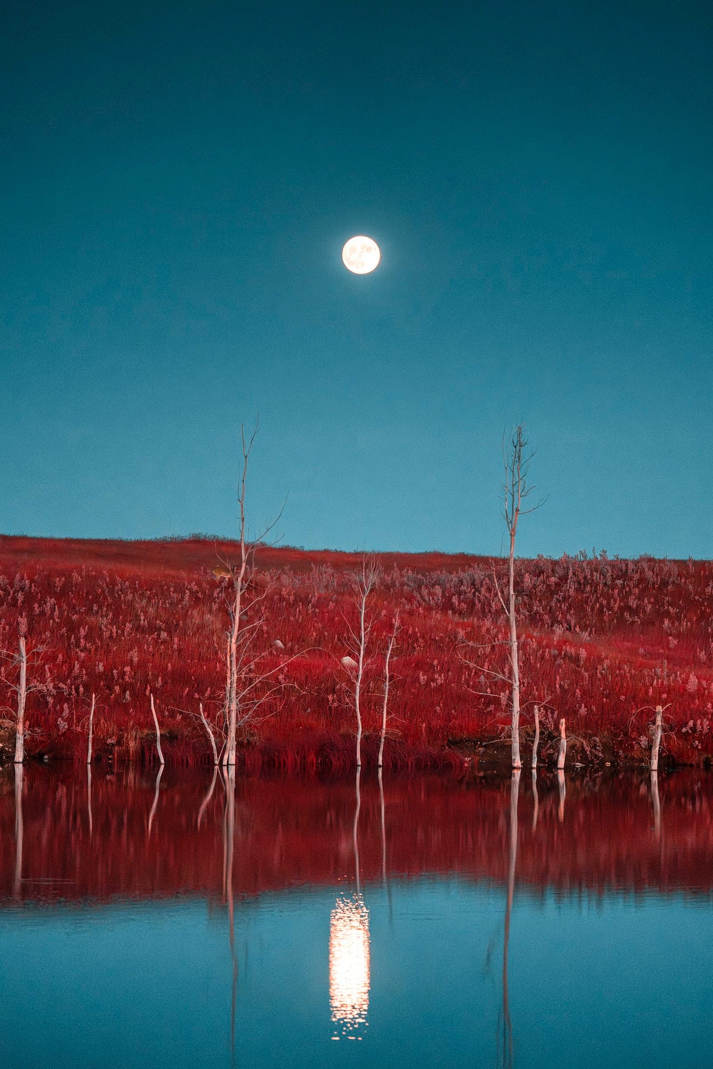
<path id="1" fill-rule="evenodd" d="M 43 672 L 52 683 L 48 697 L 31 698 L 30 753 L 81 753 L 92 691 L 99 703 L 97 752 L 150 753 L 151 686 L 169 760 L 204 760 L 200 725 L 175 710 L 220 700 L 226 619 L 212 570 L 217 553 L 234 556 L 234 548 L 201 539 L 0 538 L 0 646 L 14 647 L 25 618 L 31 645 L 47 647 Z M 355 554 L 291 548 L 259 555 L 258 582 L 267 575 L 273 582 L 262 649 L 275 664 L 277 638 L 286 654 L 310 652 L 285 670 L 285 683 L 296 687 L 285 690 L 281 712 L 248 740 L 249 764 L 342 766 L 353 760 L 353 713 L 339 659 L 346 652 L 343 614 L 353 611 L 359 562 Z M 460 655 L 464 638 L 489 642 L 505 635 L 492 561 L 385 554 L 382 566 L 385 577 L 373 602 L 376 641 L 397 606 L 402 620 L 387 760 L 444 760 L 449 744 L 495 737 L 507 723 L 502 687 Z M 547 731 L 563 715 L 594 756 L 614 745 L 641 759 L 650 708 L 670 704 L 668 753 L 694 763 L 710 758 L 712 563 L 539 558 L 518 562 L 517 585 L 524 698 L 548 696 L 553 707 L 544 715 L 545 747 Z M 468 656 L 484 668 L 505 667 L 500 646 Z M 367 700 L 368 756 L 378 724 L 378 682 L 376 663 Z M 475 693 L 483 691 L 493 696 Z M 526 706 L 526 729 L 529 711 Z"/>

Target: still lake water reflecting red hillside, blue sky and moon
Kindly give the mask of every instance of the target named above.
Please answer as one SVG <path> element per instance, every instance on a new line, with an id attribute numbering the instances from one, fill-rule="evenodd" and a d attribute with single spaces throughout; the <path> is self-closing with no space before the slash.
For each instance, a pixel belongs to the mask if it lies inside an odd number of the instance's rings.
<path id="1" fill-rule="evenodd" d="M 0 771 L 5 1067 L 713 1066 L 713 783 Z"/>

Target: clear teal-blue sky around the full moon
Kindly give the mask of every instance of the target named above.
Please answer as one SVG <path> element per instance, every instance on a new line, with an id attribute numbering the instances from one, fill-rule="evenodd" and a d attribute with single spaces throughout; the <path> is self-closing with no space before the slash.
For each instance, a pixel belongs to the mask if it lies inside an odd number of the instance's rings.
<path id="1" fill-rule="evenodd" d="M 0 41 L 0 530 L 713 556 L 713 14 L 25 0 Z M 350 274 L 341 248 L 382 262 Z"/>

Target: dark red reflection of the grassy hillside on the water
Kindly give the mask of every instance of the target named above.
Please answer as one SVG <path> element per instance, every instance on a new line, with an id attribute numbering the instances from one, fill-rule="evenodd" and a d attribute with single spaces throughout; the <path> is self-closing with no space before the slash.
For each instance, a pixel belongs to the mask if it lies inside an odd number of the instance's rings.
<path id="1" fill-rule="evenodd" d="M 25 899 L 109 899 L 195 893 L 222 897 L 220 780 L 198 827 L 210 778 L 167 770 L 149 832 L 154 776 L 134 766 L 92 785 L 72 766 L 30 766 L 22 799 Z M 0 899 L 14 893 L 13 773 L 0 780 Z M 603 784 L 570 778 L 562 820 L 557 783 L 540 776 L 537 827 L 529 775 L 521 781 L 517 881 L 533 890 L 713 890 L 713 783 L 682 772 L 660 784 L 661 834 L 647 779 Z M 354 784 L 315 778 L 237 777 L 233 893 L 258 895 L 303 883 L 352 883 Z M 505 882 L 510 784 L 387 776 L 386 867 L 391 877 L 450 873 Z M 365 776 L 358 826 L 360 872 L 382 874 L 381 807 Z M 56 882 L 43 882 L 48 878 Z M 67 882 L 60 882 L 67 881 Z"/>

